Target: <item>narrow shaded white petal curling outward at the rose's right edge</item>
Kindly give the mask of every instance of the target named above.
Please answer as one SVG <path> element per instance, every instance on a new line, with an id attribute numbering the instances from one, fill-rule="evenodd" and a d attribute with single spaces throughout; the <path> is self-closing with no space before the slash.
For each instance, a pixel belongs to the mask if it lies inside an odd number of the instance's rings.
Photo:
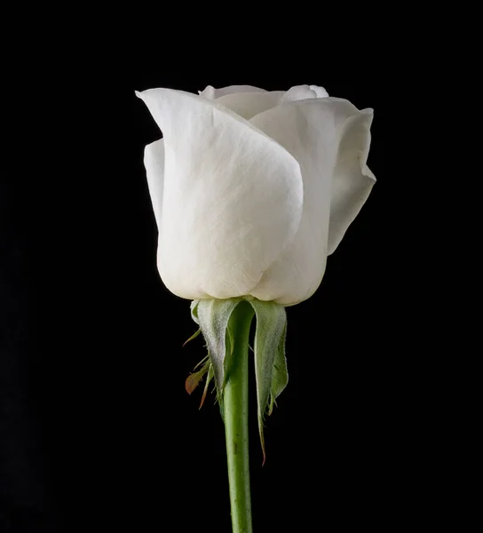
<path id="1" fill-rule="evenodd" d="M 344 124 L 343 138 L 337 155 L 337 166 L 330 202 L 329 249 L 331 254 L 342 241 L 347 228 L 357 217 L 376 183 L 368 169 L 372 109 L 364 109 Z"/>

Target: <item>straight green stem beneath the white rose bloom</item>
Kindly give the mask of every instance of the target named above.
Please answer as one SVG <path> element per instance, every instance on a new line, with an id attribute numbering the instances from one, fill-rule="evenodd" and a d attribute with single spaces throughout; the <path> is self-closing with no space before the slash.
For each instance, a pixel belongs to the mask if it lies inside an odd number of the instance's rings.
<path id="1" fill-rule="evenodd" d="M 234 308 L 228 322 L 234 346 L 223 405 L 233 533 L 252 533 L 249 493 L 249 326 L 253 314 L 249 303 L 241 302 Z"/>

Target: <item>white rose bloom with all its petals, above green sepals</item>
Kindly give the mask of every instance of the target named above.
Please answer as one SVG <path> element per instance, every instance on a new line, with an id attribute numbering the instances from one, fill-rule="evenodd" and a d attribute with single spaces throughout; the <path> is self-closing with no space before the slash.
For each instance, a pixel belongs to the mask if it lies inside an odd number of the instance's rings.
<path id="1" fill-rule="evenodd" d="M 145 165 L 168 289 L 285 306 L 312 296 L 376 181 L 372 109 L 313 85 L 137 94 L 163 133 Z"/>

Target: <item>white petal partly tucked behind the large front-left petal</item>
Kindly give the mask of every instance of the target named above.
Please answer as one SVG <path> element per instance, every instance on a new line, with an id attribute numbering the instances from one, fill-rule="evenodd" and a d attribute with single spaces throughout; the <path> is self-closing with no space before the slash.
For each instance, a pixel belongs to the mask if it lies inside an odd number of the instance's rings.
<path id="1" fill-rule="evenodd" d="M 297 235 L 251 290 L 254 297 L 291 305 L 312 296 L 320 285 L 328 254 L 337 153 L 352 115 L 359 111 L 347 100 L 305 99 L 250 121 L 297 158 L 304 179 L 304 211 Z"/>

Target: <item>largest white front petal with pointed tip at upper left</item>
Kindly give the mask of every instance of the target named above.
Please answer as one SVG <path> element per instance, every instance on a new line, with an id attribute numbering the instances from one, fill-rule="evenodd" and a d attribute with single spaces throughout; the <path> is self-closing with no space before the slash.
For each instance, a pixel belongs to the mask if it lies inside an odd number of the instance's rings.
<path id="1" fill-rule="evenodd" d="M 168 89 L 139 97 L 164 134 L 163 282 L 189 299 L 249 294 L 297 232 L 297 160 L 208 99 Z"/>

